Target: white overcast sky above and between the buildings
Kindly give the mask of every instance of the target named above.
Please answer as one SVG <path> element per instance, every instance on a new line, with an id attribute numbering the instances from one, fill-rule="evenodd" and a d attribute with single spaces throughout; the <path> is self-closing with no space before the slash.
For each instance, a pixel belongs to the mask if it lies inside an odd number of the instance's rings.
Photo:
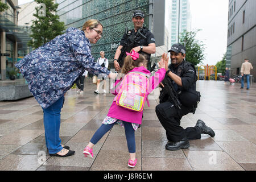
<path id="1" fill-rule="evenodd" d="M 22 5 L 32 0 L 18 1 L 19 5 Z M 171 0 L 167 1 L 171 2 Z M 215 65 L 226 53 L 228 2 L 228 0 L 190 0 L 192 30 L 201 29 L 197 33 L 197 39 L 205 44 L 204 64 Z"/>

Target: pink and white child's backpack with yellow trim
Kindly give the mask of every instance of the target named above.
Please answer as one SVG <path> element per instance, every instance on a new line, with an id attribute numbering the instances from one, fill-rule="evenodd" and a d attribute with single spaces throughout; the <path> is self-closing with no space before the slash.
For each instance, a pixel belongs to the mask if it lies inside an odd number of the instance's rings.
<path id="1" fill-rule="evenodd" d="M 122 80 L 121 88 L 117 95 L 116 104 L 126 109 L 143 111 L 147 99 L 149 81 L 142 72 L 130 72 Z"/>

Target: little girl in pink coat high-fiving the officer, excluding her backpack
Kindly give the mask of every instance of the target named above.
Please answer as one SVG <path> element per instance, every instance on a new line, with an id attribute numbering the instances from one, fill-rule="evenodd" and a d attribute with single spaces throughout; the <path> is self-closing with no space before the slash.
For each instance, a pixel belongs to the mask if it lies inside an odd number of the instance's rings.
<path id="1" fill-rule="evenodd" d="M 167 67 L 166 67 L 167 65 Z M 145 75 L 150 76 L 150 71 L 146 69 L 147 61 L 143 55 L 139 55 L 139 53 L 127 53 L 125 58 L 122 73 L 125 75 L 130 72 L 142 72 Z M 166 74 L 166 68 L 168 68 L 168 58 L 167 55 L 164 54 L 162 59 L 159 61 L 159 71 L 156 72 L 155 76 L 151 76 L 149 80 L 149 88 L 148 92 L 146 93 L 146 97 L 152 90 L 159 85 L 159 83 L 163 80 Z M 120 80 L 118 80 L 119 82 Z M 122 82 L 120 86 L 122 85 Z M 116 90 L 119 90 L 117 88 Z M 118 93 L 114 93 L 115 95 Z M 127 140 L 127 146 L 130 154 L 130 159 L 128 162 L 128 166 L 134 168 L 137 159 L 135 158 L 135 134 L 136 131 L 141 125 L 142 122 L 142 114 L 143 111 L 134 111 L 126 109 L 125 107 L 119 106 L 116 104 L 116 98 L 114 99 L 112 105 L 110 106 L 109 112 L 102 122 L 101 127 L 94 133 L 92 139 L 85 147 L 84 151 L 82 152 L 85 157 L 89 156 L 93 158 L 93 146 L 114 126 L 114 123 L 117 122 L 122 127 L 125 127 L 125 135 Z"/>

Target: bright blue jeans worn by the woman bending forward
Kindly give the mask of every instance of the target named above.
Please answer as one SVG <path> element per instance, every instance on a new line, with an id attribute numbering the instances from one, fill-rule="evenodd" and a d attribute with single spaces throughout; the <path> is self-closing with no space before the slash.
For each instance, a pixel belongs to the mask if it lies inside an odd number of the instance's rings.
<path id="1" fill-rule="evenodd" d="M 44 131 L 46 135 L 46 146 L 49 154 L 56 154 L 61 151 L 60 139 L 60 111 L 63 106 L 64 96 L 60 97 L 44 111 Z"/>

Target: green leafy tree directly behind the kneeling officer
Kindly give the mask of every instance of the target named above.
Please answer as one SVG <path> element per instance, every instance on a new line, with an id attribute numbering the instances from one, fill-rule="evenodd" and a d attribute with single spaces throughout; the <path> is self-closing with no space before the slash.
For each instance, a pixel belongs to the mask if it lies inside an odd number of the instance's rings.
<path id="1" fill-rule="evenodd" d="M 204 60 L 204 50 L 205 44 L 200 40 L 196 39 L 196 34 L 200 30 L 196 31 L 183 31 L 180 35 L 180 43 L 185 45 L 186 48 L 186 60 L 192 63 L 193 65 L 197 65 L 202 63 Z"/>

